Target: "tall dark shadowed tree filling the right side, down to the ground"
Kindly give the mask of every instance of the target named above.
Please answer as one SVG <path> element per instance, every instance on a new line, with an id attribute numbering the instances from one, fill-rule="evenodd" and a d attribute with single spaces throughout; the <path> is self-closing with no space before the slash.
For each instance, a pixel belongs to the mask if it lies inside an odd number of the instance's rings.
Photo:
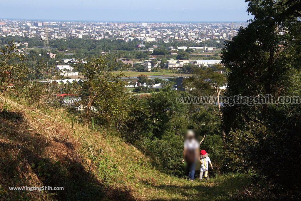
<path id="1" fill-rule="evenodd" d="M 241 94 L 275 97 L 300 94 L 301 23 L 299 6 L 290 1 L 247 0 L 254 16 L 246 28 L 240 28 L 232 41 L 225 42 L 228 97 Z M 279 4 L 278 2 L 283 2 Z M 298 1 L 299 2 L 299 1 Z M 299 2 L 300 3 L 300 2 Z M 288 12 L 289 9 L 295 10 Z M 301 163 L 294 163 L 289 173 L 282 164 L 300 161 L 300 107 L 296 104 L 225 105 L 223 128 L 227 134 L 228 158 L 234 169 L 251 171 L 279 189 L 300 192 Z M 260 157 L 258 157 L 260 155 Z M 281 161 L 281 163 L 279 163 Z M 283 191 L 282 193 L 286 193 Z"/>

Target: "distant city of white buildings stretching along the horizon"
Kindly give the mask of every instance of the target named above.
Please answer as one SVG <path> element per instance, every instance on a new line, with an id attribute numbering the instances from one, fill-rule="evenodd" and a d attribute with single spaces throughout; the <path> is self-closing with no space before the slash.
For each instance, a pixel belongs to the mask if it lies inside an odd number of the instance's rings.
<path id="1" fill-rule="evenodd" d="M 0 20 L 0 36 L 72 39 L 84 36 L 91 39 L 116 39 L 138 42 L 180 40 L 200 44 L 212 40 L 223 43 L 237 34 L 244 22 L 167 23 L 167 22 L 78 22 Z M 214 46 L 214 44 L 213 44 Z"/>

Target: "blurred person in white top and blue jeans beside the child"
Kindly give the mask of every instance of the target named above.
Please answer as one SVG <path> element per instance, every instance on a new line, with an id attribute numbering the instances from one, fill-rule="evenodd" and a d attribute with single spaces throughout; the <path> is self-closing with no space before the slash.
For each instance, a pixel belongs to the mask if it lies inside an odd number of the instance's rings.
<path id="1" fill-rule="evenodd" d="M 184 141 L 183 160 L 186 165 L 186 176 L 191 181 L 194 180 L 195 166 L 199 159 L 200 143 L 197 141 L 194 131 L 188 130 Z"/>

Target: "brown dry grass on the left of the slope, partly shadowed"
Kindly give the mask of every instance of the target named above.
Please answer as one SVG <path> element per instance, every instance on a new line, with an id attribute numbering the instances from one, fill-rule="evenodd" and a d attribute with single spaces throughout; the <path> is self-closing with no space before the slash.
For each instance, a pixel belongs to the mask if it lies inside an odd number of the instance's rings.
<path id="1" fill-rule="evenodd" d="M 3 100 L 0 105 L 0 195 L 5 199 L 52 200 L 104 197 L 110 186 L 89 174 L 89 159 L 62 119 Z M 15 119 L 15 116 L 18 119 Z M 52 186 L 63 191 L 13 191 L 8 187 Z M 115 188 L 114 191 L 119 190 Z M 120 190 L 121 193 L 123 193 Z M 121 194 L 120 193 L 120 194 Z"/>

